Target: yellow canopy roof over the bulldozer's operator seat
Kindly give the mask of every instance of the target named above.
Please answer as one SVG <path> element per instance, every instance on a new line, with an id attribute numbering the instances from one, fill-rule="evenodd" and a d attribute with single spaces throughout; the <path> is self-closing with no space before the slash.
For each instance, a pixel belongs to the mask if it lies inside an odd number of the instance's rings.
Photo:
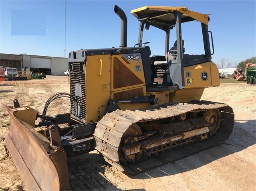
<path id="1" fill-rule="evenodd" d="M 131 11 L 138 20 L 148 20 L 149 24 L 162 30 L 167 30 L 175 24 L 175 12 L 183 13 L 181 22 L 192 20 L 208 25 L 209 14 L 202 14 L 188 10 L 186 7 L 144 6 Z"/>

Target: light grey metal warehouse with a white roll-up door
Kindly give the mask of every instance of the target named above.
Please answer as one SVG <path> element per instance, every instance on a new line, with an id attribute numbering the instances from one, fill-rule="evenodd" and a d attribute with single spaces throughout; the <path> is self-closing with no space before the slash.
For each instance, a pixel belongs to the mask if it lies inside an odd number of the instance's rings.
<path id="1" fill-rule="evenodd" d="M 51 57 L 22 54 L 22 67 L 30 68 L 34 72 L 43 72 L 46 75 L 61 76 L 68 69 L 68 59 L 64 57 Z"/>

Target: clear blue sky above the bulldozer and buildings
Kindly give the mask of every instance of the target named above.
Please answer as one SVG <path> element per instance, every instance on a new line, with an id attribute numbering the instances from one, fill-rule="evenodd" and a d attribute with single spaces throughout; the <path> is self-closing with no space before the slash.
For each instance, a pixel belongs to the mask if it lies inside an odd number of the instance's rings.
<path id="1" fill-rule="evenodd" d="M 256 56 L 254 0 L 67 0 L 66 57 L 69 51 L 81 48 L 119 47 L 120 18 L 114 12 L 115 5 L 127 15 L 128 47 L 137 43 L 139 28 L 131 10 L 142 6 L 185 6 L 211 14 L 208 28 L 213 33 L 212 57 L 216 64 L 225 58 L 236 67 L 240 61 Z M 65 0 L 0 0 L 0 22 L 0 53 L 64 57 Z M 185 53 L 201 54 L 201 29 L 192 24 L 182 29 Z M 143 41 L 150 41 L 152 55 L 164 55 L 163 31 L 150 28 L 144 32 Z"/>

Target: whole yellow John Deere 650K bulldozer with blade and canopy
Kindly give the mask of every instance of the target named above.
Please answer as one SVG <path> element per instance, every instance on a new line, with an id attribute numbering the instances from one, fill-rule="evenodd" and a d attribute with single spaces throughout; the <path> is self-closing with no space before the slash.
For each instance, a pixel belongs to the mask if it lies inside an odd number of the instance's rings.
<path id="1" fill-rule="evenodd" d="M 132 10 L 139 38 L 127 47 L 127 17 L 118 6 L 114 11 L 121 20 L 120 47 L 69 52 L 70 93 L 51 96 L 41 114 L 17 99 L 5 106 L 11 118 L 6 147 L 28 190 L 70 189 L 67 156 L 96 149 L 109 164 L 133 174 L 139 165 L 149 169 L 149 159 L 175 150 L 193 154 L 216 146 L 233 130 L 230 106 L 200 100 L 205 88 L 220 85 L 209 14 L 186 7 Z M 187 22 L 201 24 L 204 53 L 185 54 L 181 27 Z M 165 32 L 163 55 L 151 56 L 143 41 L 150 26 Z M 47 115 L 60 97 L 70 103 Z"/>

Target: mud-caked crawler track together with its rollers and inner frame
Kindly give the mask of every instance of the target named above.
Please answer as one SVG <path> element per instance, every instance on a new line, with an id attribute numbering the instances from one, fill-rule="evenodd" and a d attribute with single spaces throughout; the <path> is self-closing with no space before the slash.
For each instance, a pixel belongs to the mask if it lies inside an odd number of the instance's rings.
<path id="1" fill-rule="evenodd" d="M 143 163 L 152 156 L 198 142 L 207 148 L 216 146 L 229 137 L 233 125 L 232 108 L 216 102 L 173 102 L 135 111 L 117 110 L 98 122 L 95 148 L 117 169 L 134 173 L 131 163 Z"/>

